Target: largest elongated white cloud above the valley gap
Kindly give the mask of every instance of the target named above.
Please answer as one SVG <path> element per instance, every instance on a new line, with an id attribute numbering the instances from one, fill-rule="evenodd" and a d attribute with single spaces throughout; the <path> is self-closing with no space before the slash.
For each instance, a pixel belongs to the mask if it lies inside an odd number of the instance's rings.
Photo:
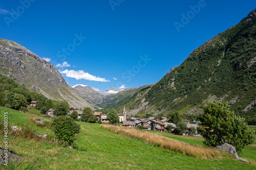
<path id="1" fill-rule="evenodd" d="M 84 79 L 84 80 L 97 81 L 97 82 L 109 82 L 109 80 L 106 80 L 105 78 L 100 78 L 100 77 L 90 75 L 88 72 L 84 72 L 83 70 L 65 69 L 63 71 L 60 71 L 60 73 L 66 74 L 67 77 L 75 78 L 76 80 Z"/>

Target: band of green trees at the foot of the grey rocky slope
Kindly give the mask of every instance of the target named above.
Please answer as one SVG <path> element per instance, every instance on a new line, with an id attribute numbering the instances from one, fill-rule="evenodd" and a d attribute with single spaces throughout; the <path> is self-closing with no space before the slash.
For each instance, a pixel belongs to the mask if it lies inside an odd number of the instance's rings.
<path id="1" fill-rule="evenodd" d="M 38 92 L 30 91 L 25 84 L 19 85 L 13 79 L 0 75 L 0 106 L 27 111 L 31 101 L 37 101 L 36 109 L 43 114 L 50 108 L 57 115 L 66 115 L 69 112 L 68 102 L 48 99 Z"/>

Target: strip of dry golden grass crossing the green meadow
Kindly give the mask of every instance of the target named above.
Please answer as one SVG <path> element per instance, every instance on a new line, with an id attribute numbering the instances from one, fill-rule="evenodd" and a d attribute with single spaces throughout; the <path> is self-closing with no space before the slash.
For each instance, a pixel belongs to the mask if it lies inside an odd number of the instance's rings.
<path id="1" fill-rule="evenodd" d="M 198 145 L 191 145 L 185 142 L 181 142 L 179 140 L 170 139 L 164 136 L 160 136 L 157 134 L 153 134 L 146 131 L 139 131 L 135 129 L 123 128 L 119 126 L 113 125 L 101 125 L 103 129 L 108 131 L 114 132 L 116 134 L 130 137 L 130 138 L 137 138 L 144 142 L 150 144 L 157 144 L 158 147 L 168 149 L 174 152 L 180 152 L 182 154 L 192 156 L 195 158 L 203 158 L 203 159 L 220 159 L 220 158 L 230 158 L 233 159 L 227 153 L 213 150 L 211 148 L 203 148 Z"/>

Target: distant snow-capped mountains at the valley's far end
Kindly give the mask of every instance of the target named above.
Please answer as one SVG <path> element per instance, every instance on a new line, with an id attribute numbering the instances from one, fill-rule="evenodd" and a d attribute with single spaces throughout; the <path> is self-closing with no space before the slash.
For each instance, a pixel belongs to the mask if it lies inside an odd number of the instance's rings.
<path id="1" fill-rule="evenodd" d="M 106 91 L 95 91 L 93 88 L 89 86 L 77 85 L 76 87 L 74 87 L 74 89 L 78 93 L 80 93 L 85 99 L 92 102 L 94 105 L 101 108 L 110 108 L 131 98 L 131 96 L 133 96 L 136 92 L 148 86 L 152 85 L 144 85 L 138 88 L 132 87 L 122 90 L 112 88 Z M 113 92 L 114 90 L 116 90 L 117 93 L 110 94 L 110 92 Z"/>

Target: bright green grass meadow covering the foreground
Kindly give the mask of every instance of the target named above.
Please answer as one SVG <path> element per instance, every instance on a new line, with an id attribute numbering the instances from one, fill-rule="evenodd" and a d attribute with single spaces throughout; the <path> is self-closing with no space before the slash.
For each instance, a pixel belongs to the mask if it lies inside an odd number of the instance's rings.
<path id="1" fill-rule="evenodd" d="M 42 134 L 51 130 L 36 127 L 28 122 L 33 116 L 0 107 L 0 118 L 8 112 L 9 123 L 22 127 L 27 125 Z M 36 117 L 36 116 L 35 116 Z M 44 118 L 42 118 L 44 119 Z M 34 139 L 9 136 L 9 150 L 16 151 L 24 161 L 0 169 L 255 169 L 256 167 L 237 160 L 207 160 L 172 152 L 138 139 L 127 138 L 99 127 L 98 124 L 80 123 L 81 133 L 76 145 L 80 150 L 63 148 L 59 145 Z M 200 143 L 199 138 L 171 136 L 187 143 Z M 1 135 L 1 138 L 4 138 Z M 200 145 L 200 144 L 199 144 Z M 0 147 L 3 147 L 1 142 Z M 254 148 L 245 150 L 250 159 Z M 255 155 L 255 154 L 254 154 Z"/>

